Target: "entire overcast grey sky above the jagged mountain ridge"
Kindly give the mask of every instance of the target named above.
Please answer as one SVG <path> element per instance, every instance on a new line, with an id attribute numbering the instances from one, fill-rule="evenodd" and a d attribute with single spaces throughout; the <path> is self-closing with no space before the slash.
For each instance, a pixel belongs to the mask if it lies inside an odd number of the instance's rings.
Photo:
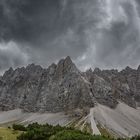
<path id="1" fill-rule="evenodd" d="M 140 64 L 140 0 L 0 0 L 0 71 L 71 56 L 84 70 Z"/>

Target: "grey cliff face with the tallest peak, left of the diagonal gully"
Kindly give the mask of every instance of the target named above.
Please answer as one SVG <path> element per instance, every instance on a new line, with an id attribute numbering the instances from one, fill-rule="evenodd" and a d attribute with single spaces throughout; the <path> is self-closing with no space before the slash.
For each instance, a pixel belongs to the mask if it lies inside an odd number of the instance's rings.
<path id="1" fill-rule="evenodd" d="M 48 69 L 10 68 L 0 79 L 0 110 L 59 112 L 93 105 L 89 84 L 70 57 Z"/>

